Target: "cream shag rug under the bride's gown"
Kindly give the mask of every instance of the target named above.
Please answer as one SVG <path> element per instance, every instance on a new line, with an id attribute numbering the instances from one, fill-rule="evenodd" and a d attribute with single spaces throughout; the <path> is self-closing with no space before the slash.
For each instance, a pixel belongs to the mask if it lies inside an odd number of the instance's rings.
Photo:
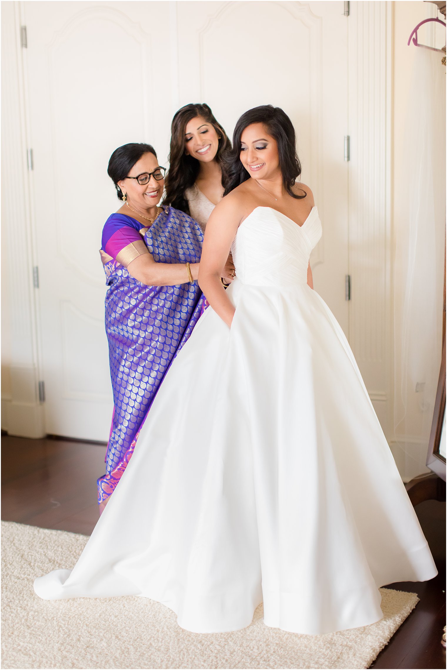
<path id="1" fill-rule="evenodd" d="M 5 521 L 1 530 L 3 668 L 367 668 L 418 602 L 381 589 L 381 621 L 317 636 L 264 626 L 260 605 L 248 628 L 199 635 L 137 596 L 41 600 L 34 578 L 72 567 L 88 538 Z"/>

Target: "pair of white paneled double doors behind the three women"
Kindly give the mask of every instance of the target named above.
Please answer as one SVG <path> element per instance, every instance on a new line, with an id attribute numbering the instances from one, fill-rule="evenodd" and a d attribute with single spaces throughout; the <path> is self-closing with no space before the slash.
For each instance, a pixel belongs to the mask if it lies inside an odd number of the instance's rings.
<path id="1" fill-rule="evenodd" d="M 343 5 L 24 3 L 48 433 L 108 438 L 112 393 L 98 254 L 104 221 L 118 208 L 108 158 L 119 145 L 145 141 L 167 165 L 171 118 L 186 103 L 208 103 L 229 135 L 256 105 L 271 103 L 290 115 L 302 181 L 323 221 L 311 258 L 315 287 L 347 333 Z"/>

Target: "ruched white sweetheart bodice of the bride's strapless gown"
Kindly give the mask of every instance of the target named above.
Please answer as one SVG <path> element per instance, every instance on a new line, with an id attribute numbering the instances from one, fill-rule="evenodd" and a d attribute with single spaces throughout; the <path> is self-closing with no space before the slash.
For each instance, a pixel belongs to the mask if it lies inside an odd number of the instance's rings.
<path id="1" fill-rule="evenodd" d="M 310 252 L 321 233 L 317 207 L 301 226 L 271 207 L 256 207 L 240 224 L 232 245 L 236 276 L 252 286 L 306 283 Z"/>

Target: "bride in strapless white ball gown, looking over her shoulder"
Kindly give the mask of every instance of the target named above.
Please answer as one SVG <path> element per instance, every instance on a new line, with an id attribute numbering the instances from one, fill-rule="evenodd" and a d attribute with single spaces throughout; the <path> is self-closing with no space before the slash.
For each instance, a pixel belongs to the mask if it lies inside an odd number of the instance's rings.
<path id="1" fill-rule="evenodd" d="M 266 625 L 321 634 L 381 619 L 380 586 L 436 575 L 347 339 L 312 289 L 322 229 L 294 147 L 278 108 L 238 121 L 200 264 L 211 307 L 74 569 L 35 580 L 41 598 L 146 596 L 200 633 L 248 626 L 264 601 Z"/>

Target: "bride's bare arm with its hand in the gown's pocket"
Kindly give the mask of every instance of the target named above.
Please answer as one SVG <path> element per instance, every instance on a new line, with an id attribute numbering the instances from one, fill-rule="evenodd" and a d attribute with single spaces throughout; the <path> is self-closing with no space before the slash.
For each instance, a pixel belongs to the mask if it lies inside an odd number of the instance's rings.
<path id="1" fill-rule="evenodd" d="M 215 206 L 207 222 L 199 267 L 199 286 L 213 310 L 229 327 L 235 309 L 220 277 L 240 221 L 240 203 L 234 196 L 227 196 Z"/>

